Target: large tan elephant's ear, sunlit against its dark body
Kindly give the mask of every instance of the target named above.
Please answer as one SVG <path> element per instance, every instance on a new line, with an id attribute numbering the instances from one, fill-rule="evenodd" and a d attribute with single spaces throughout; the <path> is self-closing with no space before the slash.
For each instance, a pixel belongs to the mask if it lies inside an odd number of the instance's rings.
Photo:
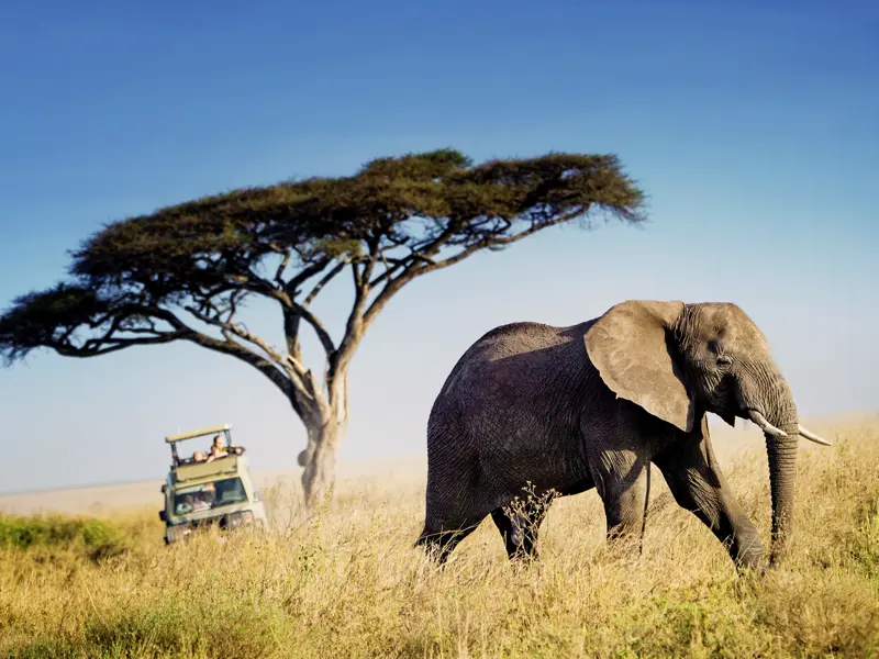
<path id="1" fill-rule="evenodd" d="M 693 428 L 694 403 L 667 346 L 683 302 L 630 300 L 616 304 L 586 333 L 586 350 L 617 398 L 679 427 Z"/>

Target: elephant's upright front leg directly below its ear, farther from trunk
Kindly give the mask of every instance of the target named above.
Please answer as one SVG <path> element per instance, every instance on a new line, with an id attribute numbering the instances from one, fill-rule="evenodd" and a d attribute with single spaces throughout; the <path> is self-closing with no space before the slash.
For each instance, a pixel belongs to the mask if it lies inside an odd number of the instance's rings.
<path id="1" fill-rule="evenodd" d="M 590 469 L 604 503 L 608 541 L 624 552 L 641 555 L 650 489 L 649 459 L 632 450 L 602 450 L 594 458 Z"/>

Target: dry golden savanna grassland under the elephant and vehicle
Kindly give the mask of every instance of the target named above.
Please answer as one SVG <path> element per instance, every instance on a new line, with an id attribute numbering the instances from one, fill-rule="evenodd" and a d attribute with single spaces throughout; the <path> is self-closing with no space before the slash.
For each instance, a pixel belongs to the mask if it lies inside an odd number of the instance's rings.
<path id="1" fill-rule="evenodd" d="M 608 551 L 589 492 L 554 504 L 536 563 L 508 562 L 487 521 L 437 569 L 412 547 L 423 480 L 348 487 L 264 537 L 173 548 L 154 509 L 0 518 L 0 655 L 878 657 L 879 424 L 815 429 L 836 446 L 802 443 L 791 554 L 763 578 L 736 577 L 658 472 L 637 561 Z M 723 465 L 766 541 L 758 446 Z M 282 492 L 265 494 L 285 518 Z"/>

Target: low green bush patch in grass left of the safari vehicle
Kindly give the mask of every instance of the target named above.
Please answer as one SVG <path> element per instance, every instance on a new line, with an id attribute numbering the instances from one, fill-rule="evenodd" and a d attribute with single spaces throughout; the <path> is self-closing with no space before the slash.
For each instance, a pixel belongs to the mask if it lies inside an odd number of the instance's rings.
<path id="1" fill-rule="evenodd" d="M 0 548 L 32 551 L 63 549 L 100 561 L 129 549 L 121 528 L 94 517 L 0 514 Z"/>

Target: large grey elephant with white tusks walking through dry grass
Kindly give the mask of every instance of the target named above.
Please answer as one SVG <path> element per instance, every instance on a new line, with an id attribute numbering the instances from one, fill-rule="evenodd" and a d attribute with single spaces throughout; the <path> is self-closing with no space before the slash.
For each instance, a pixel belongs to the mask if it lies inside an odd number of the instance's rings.
<path id="1" fill-rule="evenodd" d="M 596 488 L 609 544 L 628 540 L 641 555 L 654 463 L 739 570 L 765 569 L 759 533 L 714 456 L 708 412 L 765 435 L 772 566 L 789 547 L 798 440 L 831 443 L 799 423 L 766 336 L 731 302 L 627 300 L 572 326 L 522 322 L 485 334 L 430 412 L 415 546 L 444 563 L 491 515 L 509 558 L 534 559 L 553 498 Z M 526 485 L 534 496 L 524 501 Z"/>

